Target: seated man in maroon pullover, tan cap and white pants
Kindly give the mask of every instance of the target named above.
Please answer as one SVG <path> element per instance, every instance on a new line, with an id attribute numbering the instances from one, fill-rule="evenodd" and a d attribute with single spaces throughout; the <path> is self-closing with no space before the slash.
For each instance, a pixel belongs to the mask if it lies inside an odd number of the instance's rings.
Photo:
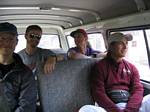
<path id="1" fill-rule="evenodd" d="M 113 33 L 108 38 L 107 56 L 100 60 L 92 74 L 92 95 L 98 106 L 85 105 L 79 112 L 149 112 L 150 95 L 143 99 L 139 72 L 123 59 L 131 35 Z"/>

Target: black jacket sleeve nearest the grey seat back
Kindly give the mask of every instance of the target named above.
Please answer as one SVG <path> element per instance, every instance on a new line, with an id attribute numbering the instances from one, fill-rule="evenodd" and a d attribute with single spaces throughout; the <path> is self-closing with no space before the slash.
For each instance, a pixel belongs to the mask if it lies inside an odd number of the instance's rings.
<path id="1" fill-rule="evenodd" d="M 15 112 L 35 112 L 37 87 L 32 71 L 27 70 L 27 73 L 21 75 L 20 96 L 18 107 Z"/>

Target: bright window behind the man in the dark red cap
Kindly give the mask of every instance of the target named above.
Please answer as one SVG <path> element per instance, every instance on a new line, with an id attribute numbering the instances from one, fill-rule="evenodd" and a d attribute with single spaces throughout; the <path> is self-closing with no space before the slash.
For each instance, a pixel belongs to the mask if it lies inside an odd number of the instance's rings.
<path id="1" fill-rule="evenodd" d="M 71 36 L 67 36 L 69 47 L 74 47 L 74 39 Z M 92 33 L 88 34 L 88 41 L 91 44 L 92 48 L 99 51 L 106 51 L 104 39 L 101 33 Z"/>

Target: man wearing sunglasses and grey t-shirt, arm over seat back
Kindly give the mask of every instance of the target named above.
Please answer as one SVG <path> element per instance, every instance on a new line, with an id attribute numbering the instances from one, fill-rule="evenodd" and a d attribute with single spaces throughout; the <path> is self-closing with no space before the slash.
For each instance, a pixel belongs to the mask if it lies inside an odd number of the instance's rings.
<path id="1" fill-rule="evenodd" d="M 38 25 L 30 25 L 25 32 L 26 48 L 19 52 L 23 62 L 33 71 L 36 71 L 38 62 L 44 62 L 44 73 L 54 70 L 56 54 L 48 49 L 37 47 L 42 36 L 42 29 Z"/>

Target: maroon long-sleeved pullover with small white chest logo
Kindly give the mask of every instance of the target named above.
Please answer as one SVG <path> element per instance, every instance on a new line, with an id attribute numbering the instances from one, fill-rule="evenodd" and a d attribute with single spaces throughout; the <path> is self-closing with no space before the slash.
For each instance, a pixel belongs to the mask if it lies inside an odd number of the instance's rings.
<path id="1" fill-rule="evenodd" d="M 116 63 L 107 57 L 99 61 L 93 71 L 92 94 L 99 106 L 107 112 L 138 112 L 143 99 L 143 86 L 133 64 L 124 59 Z M 120 110 L 106 94 L 118 89 L 130 92 L 125 110 Z"/>

